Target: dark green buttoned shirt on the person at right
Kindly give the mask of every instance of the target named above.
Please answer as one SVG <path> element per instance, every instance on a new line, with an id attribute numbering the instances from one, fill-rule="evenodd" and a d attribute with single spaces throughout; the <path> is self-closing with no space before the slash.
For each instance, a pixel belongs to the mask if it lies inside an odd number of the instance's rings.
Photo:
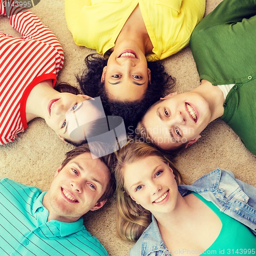
<path id="1" fill-rule="evenodd" d="M 193 31 L 190 48 L 200 79 L 235 84 L 221 117 L 256 155 L 256 1 L 224 0 Z"/>

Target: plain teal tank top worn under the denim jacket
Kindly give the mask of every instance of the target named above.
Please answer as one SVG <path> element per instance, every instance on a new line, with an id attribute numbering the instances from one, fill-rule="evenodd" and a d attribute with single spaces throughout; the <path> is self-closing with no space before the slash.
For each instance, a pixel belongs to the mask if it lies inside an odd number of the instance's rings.
<path id="1" fill-rule="evenodd" d="M 220 218 L 222 228 L 217 239 L 200 255 L 241 255 L 254 254 L 256 251 L 256 236 L 241 222 L 224 214 L 212 202 L 193 193 L 204 202 Z"/>

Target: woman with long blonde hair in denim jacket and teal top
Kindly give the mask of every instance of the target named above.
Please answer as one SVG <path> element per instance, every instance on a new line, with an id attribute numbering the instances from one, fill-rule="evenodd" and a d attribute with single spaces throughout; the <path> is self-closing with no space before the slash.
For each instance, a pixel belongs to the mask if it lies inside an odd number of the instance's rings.
<path id="1" fill-rule="evenodd" d="M 151 145 L 117 155 L 117 230 L 130 255 L 254 254 L 256 188 L 216 169 L 191 185 Z"/>

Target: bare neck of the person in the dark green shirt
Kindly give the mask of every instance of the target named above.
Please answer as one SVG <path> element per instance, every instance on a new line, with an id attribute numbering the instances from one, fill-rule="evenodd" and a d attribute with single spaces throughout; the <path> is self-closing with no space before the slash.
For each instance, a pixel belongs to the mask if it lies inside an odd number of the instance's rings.
<path id="1" fill-rule="evenodd" d="M 209 103 L 211 111 L 210 122 L 223 115 L 223 103 L 225 98 L 223 92 L 218 86 L 212 86 L 209 81 L 203 79 L 200 86 L 192 90 L 192 92 L 200 94 Z"/>

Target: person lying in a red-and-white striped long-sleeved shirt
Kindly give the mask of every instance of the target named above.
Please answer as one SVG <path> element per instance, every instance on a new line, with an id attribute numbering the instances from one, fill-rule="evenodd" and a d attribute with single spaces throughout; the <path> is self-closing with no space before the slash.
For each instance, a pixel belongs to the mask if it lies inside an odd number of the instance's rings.
<path id="1" fill-rule="evenodd" d="M 8 15 L 22 37 L 0 32 L 0 144 L 14 141 L 36 117 L 44 118 L 62 140 L 86 142 L 70 138 L 66 112 L 91 97 L 54 90 L 64 59 L 59 41 L 31 11 L 16 6 L 6 11 L 4 3 L 0 1 L 0 14 Z M 88 118 L 99 114 L 92 108 Z"/>

